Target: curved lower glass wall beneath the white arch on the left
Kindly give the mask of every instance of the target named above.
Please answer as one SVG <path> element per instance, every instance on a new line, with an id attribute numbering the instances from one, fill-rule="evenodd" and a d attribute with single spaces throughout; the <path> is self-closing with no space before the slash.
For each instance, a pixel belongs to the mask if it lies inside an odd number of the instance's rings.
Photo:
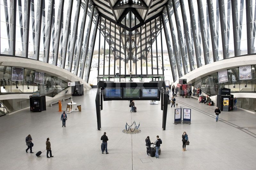
<path id="1" fill-rule="evenodd" d="M 35 77 L 38 72 L 26 68 L 19 68 L 23 75 L 17 80 L 12 77 L 12 68 L 0 66 L 0 94 L 40 92 L 40 95 L 54 97 L 68 87 L 67 82 L 46 73 L 42 73 L 42 81 L 38 81 Z"/>

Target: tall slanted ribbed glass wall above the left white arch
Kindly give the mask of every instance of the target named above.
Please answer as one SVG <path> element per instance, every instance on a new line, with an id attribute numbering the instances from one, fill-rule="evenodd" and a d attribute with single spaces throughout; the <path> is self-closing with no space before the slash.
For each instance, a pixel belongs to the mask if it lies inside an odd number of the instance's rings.
<path id="1" fill-rule="evenodd" d="M 0 55 L 47 62 L 88 81 L 97 21 L 90 0 L 0 1 Z"/>

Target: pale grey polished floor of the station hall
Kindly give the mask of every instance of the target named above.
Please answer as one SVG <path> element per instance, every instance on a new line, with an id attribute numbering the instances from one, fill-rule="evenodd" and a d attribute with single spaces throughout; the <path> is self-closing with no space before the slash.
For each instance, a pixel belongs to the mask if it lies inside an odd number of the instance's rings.
<path id="1" fill-rule="evenodd" d="M 160 104 L 135 101 L 138 112 L 131 113 L 129 101 L 104 101 L 101 130 L 97 130 L 96 89 L 83 97 L 73 97 L 82 112 L 68 114 L 62 128 L 58 105 L 46 111 L 29 108 L 0 117 L 0 169 L 255 169 L 256 115 L 237 109 L 222 112 L 215 121 L 215 106 L 196 99 L 177 97 L 178 106 L 191 108 L 191 124 L 173 124 L 174 108 L 168 105 L 166 130 L 162 130 Z M 68 103 L 67 101 L 66 103 Z M 62 109 L 66 109 L 62 103 Z M 124 134 L 126 122 L 140 123 L 139 134 Z M 190 145 L 182 151 L 181 135 L 186 131 Z M 108 152 L 100 150 L 100 137 L 108 136 Z M 33 152 L 26 153 L 25 138 L 31 134 Z M 163 141 L 159 159 L 146 155 L 145 138 L 159 135 Z M 46 158 L 46 138 L 50 138 L 53 158 Z"/>

